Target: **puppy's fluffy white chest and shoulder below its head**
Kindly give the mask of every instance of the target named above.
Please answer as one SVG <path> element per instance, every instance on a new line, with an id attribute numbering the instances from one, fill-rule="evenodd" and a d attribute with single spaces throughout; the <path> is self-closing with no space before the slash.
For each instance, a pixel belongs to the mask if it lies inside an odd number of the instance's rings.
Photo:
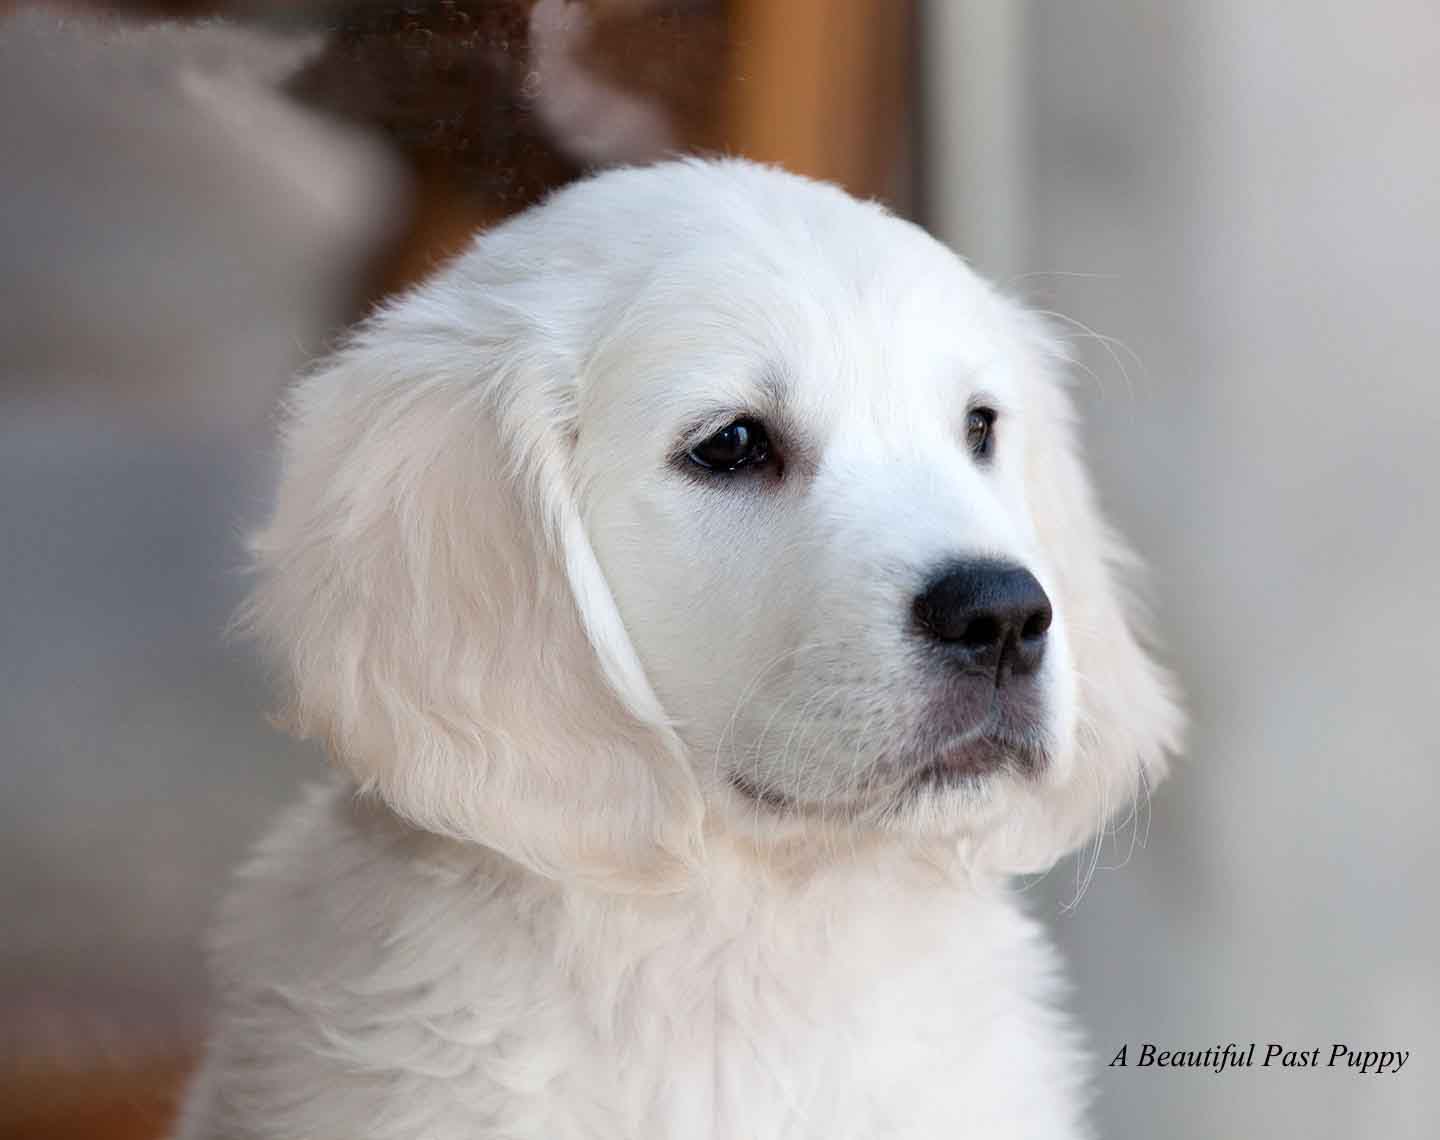
<path id="1" fill-rule="evenodd" d="M 324 871 L 321 905 L 266 877 L 236 897 L 197 1124 L 266 1140 L 1079 1134 L 1053 956 L 1004 895 L 870 868 L 827 891 L 615 905 L 344 851 L 297 872 Z"/>

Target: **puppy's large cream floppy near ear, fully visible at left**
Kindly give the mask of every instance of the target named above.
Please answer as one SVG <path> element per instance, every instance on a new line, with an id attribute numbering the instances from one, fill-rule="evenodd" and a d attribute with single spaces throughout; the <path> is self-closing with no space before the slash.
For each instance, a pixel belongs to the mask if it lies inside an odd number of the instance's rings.
<path id="1" fill-rule="evenodd" d="M 242 622 L 289 724 L 415 825 L 664 885 L 700 799 L 573 498 L 575 360 L 452 271 L 302 380 Z"/>

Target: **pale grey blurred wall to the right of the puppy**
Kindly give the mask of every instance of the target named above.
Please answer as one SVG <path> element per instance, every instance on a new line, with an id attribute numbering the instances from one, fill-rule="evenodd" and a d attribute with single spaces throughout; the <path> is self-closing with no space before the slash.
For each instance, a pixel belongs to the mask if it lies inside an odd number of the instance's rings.
<path id="1" fill-rule="evenodd" d="M 1032 1 L 998 30 L 966 7 L 929 6 L 932 68 L 992 76 L 952 114 L 1022 177 L 933 140 L 927 199 L 1066 315 L 1192 712 L 1146 845 L 1079 902 L 1083 859 L 1035 888 L 1074 1006 L 1104 1059 L 1411 1051 L 1390 1077 L 1100 1069 L 1100 1133 L 1434 1136 L 1440 6 Z"/>

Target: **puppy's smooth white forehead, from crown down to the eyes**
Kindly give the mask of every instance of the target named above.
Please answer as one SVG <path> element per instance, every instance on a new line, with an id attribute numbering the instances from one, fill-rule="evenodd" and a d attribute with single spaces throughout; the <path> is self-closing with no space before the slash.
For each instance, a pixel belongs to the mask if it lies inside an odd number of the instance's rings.
<path id="1" fill-rule="evenodd" d="M 816 442 L 858 423 L 900 440 L 953 433 L 978 394 L 1018 403 L 1018 309 L 873 203 L 747 164 L 680 164 L 559 204 L 585 207 L 566 235 L 593 246 L 603 295 L 582 419 L 672 445 L 727 412 L 775 410 Z"/>

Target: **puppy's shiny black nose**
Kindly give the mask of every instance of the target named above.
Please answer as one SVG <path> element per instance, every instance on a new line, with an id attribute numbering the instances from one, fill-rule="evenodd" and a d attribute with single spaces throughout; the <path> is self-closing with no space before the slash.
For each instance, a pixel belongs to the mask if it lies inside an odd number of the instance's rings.
<path id="1" fill-rule="evenodd" d="M 914 599 L 914 620 L 962 665 L 1034 672 L 1045 655 L 1050 599 L 1035 576 L 1001 561 L 950 563 Z"/>

